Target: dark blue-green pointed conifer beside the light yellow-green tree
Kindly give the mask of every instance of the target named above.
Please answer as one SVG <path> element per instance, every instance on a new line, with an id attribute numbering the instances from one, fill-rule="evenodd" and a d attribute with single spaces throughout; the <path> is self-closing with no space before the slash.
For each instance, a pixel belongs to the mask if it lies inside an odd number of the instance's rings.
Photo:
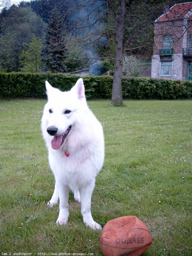
<path id="1" fill-rule="evenodd" d="M 51 11 L 47 34 L 45 36 L 45 47 L 41 53 L 43 56 L 42 62 L 44 63 L 42 71 L 50 70 L 52 73 L 67 71 L 67 67 L 63 64 L 66 57 L 64 28 L 61 8 L 59 5 L 56 5 Z M 58 44 L 62 47 L 58 48 Z"/>

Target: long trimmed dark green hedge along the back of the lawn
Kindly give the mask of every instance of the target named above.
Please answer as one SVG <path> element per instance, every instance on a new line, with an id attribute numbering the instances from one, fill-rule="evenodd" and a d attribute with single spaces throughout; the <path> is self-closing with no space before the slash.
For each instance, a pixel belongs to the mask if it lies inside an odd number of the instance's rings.
<path id="1" fill-rule="evenodd" d="M 0 73 L 0 98 L 46 98 L 45 80 L 62 91 L 68 91 L 79 76 L 51 73 Z M 112 94 L 113 77 L 84 76 L 87 99 L 109 99 Z M 157 78 L 122 79 L 124 99 L 189 99 L 192 83 Z"/>

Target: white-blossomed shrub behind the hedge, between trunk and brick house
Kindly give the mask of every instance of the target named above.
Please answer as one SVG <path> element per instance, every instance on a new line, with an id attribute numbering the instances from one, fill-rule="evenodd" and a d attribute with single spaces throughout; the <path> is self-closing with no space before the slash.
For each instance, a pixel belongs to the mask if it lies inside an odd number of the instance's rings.
<path id="1" fill-rule="evenodd" d="M 124 76 L 139 76 L 139 60 L 136 56 L 123 55 L 123 74 Z"/>

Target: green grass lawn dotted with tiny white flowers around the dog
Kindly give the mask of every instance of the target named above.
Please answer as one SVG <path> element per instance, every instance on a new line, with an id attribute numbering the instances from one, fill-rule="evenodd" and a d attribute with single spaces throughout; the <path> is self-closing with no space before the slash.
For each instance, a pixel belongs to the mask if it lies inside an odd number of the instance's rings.
<path id="1" fill-rule="evenodd" d="M 100 231 L 83 224 L 69 195 L 70 217 L 56 226 L 58 205 L 40 120 L 45 100 L 0 101 L 1 253 L 93 253 Z M 106 156 L 92 195 L 92 216 L 135 215 L 148 227 L 145 256 L 192 255 L 192 101 L 88 101 L 103 125 Z"/>

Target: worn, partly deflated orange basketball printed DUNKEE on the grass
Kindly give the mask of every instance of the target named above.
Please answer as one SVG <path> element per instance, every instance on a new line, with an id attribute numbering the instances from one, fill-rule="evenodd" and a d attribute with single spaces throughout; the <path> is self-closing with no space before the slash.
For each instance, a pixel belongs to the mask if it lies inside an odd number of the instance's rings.
<path id="1" fill-rule="evenodd" d="M 108 221 L 100 235 L 104 256 L 140 256 L 151 243 L 148 228 L 135 216 Z"/>

